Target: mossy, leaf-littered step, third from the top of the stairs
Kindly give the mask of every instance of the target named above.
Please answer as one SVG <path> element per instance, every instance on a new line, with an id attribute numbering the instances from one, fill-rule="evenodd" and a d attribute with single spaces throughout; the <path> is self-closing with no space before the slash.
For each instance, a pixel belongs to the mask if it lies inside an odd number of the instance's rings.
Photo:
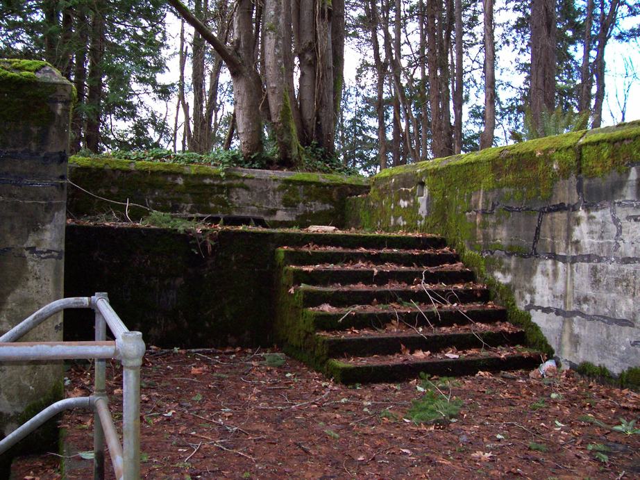
<path id="1" fill-rule="evenodd" d="M 429 268 L 400 267 L 384 265 L 371 267 L 350 266 L 316 266 L 285 267 L 284 276 L 292 285 L 307 283 L 308 285 L 329 285 L 331 283 L 370 283 L 385 285 L 389 281 L 412 284 L 416 281 L 425 283 L 466 283 L 475 280 L 471 270 L 461 267 L 460 263 L 439 265 Z"/>

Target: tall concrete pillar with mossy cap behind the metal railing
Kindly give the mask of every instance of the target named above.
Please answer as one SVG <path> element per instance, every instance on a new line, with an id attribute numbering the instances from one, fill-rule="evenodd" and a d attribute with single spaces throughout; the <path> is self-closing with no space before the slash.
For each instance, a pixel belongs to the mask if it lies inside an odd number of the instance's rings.
<path id="1" fill-rule="evenodd" d="M 72 97 L 47 63 L 0 60 L 0 334 L 63 296 Z M 62 315 L 22 340 L 61 341 Z M 0 363 L 0 438 L 60 399 L 62 379 L 61 363 Z"/>

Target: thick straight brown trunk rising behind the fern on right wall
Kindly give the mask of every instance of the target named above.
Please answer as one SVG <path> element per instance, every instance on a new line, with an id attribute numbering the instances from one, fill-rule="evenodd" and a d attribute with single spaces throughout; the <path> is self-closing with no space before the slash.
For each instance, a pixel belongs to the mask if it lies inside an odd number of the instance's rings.
<path id="1" fill-rule="evenodd" d="M 542 114 L 555 108 L 557 21 L 555 0 L 531 1 L 531 74 L 529 107 L 532 122 L 543 135 Z"/>

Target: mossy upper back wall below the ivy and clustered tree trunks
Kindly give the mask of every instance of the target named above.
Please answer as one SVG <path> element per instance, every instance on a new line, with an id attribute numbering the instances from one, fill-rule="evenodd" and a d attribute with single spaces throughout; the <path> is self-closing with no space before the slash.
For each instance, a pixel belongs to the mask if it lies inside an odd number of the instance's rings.
<path id="1" fill-rule="evenodd" d="M 369 190 L 366 179 L 340 175 L 78 157 L 69 162 L 69 180 L 73 217 L 139 204 L 185 217 L 251 217 L 278 228 L 342 226 L 346 197 Z M 146 213 L 128 208 L 133 221 Z"/>

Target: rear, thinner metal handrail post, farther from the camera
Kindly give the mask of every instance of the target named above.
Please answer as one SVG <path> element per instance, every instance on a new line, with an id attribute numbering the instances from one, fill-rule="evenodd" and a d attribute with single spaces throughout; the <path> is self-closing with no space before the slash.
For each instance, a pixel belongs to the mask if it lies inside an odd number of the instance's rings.
<path id="1" fill-rule="evenodd" d="M 96 308 L 96 301 L 99 298 L 109 301 L 109 297 L 104 292 L 96 293 L 92 298 L 91 306 L 95 312 L 95 339 L 96 342 L 106 340 L 106 322 L 102 313 Z M 95 359 L 95 380 L 94 380 L 94 396 L 103 398 L 107 402 L 106 394 L 106 361 L 103 359 Z M 94 411 L 94 431 L 93 431 L 93 478 L 94 480 L 104 480 L 104 430 L 98 411 Z"/>

